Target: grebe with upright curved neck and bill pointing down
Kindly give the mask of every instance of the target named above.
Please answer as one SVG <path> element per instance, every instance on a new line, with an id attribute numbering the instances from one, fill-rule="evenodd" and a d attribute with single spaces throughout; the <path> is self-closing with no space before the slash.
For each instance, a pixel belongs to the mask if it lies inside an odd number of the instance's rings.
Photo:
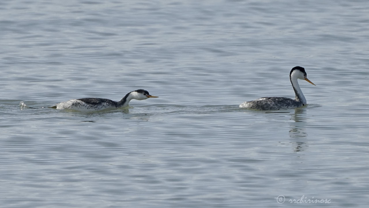
<path id="1" fill-rule="evenodd" d="M 309 83 L 314 84 L 306 78 L 306 72 L 303 67 L 293 67 L 290 72 L 290 81 L 296 94 L 296 98 L 294 100 L 288 97 L 262 97 L 253 101 L 244 102 L 239 105 L 239 107 L 257 110 L 282 110 L 304 106 L 306 105 L 306 99 L 300 89 L 297 79 L 306 80 Z"/>

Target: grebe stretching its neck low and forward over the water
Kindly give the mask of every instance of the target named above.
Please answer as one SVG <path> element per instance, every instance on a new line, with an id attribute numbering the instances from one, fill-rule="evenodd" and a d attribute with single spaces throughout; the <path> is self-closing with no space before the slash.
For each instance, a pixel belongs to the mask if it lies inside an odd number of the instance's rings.
<path id="1" fill-rule="evenodd" d="M 145 100 L 149 97 L 158 97 L 150 95 L 146 90 L 135 90 L 126 94 L 119 102 L 104 98 L 80 98 L 61 102 L 53 106 L 56 109 L 69 109 L 82 112 L 114 110 L 128 106 L 132 99 Z"/>

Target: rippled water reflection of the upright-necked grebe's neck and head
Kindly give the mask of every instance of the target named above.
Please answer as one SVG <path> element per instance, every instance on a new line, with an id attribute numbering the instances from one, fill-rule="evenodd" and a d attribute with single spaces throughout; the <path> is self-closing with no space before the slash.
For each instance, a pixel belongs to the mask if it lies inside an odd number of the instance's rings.
<path id="1" fill-rule="evenodd" d="M 289 131 L 290 138 L 293 139 L 295 144 L 294 151 L 299 152 L 307 147 L 307 132 L 306 132 L 306 108 L 295 108 L 295 112 L 292 114 L 291 129 Z"/>

